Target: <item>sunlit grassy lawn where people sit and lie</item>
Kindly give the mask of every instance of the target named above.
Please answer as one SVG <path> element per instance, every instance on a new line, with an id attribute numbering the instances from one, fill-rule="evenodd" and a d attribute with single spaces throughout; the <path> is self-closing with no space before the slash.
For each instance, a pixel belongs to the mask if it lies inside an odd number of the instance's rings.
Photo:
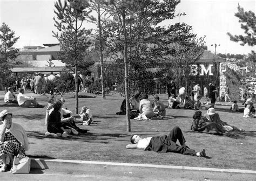
<path id="1" fill-rule="evenodd" d="M 75 110 L 73 94 L 66 94 L 64 97 L 66 107 Z M 79 126 L 89 129 L 89 133 L 72 138 L 44 136 L 45 108 L 4 107 L 2 104 L 1 110 L 8 109 L 12 112 L 13 121 L 22 124 L 26 129 L 30 142 L 27 155 L 30 157 L 255 170 L 256 119 L 244 119 L 242 113 L 230 113 L 230 106 L 216 106 L 222 120 L 246 130 L 245 133 L 234 133 L 236 137 L 232 138 L 192 132 L 190 126 L 194 110 L 167 109 L 168 119 L 131 120 L 132 132 L 126 133 L 125 115 L 116 115 L 123 99 L 118 94 L 107 95 L 106 100 L 102 100 L 101 96 L 79 98 L 79 108 L 89 107 L 94 116 L 93 120 L 98 124 Z M 160 99 L 167 106 L 167 96 Z M 38 96 L 37 100 L 47 105 L 45 96 Z M 3 102 L 3 98 L 0 101 Z M 206 110 L 203 110 L 203 113 L 206 113 Z M 130 143 L 132 134 L 140 134 L 143 137 L 167 135 L 174 126 L 183 130 L 190 148 L 196 151 L 205 148 L 208 158 L 125 148 L 126 144 Z"/>

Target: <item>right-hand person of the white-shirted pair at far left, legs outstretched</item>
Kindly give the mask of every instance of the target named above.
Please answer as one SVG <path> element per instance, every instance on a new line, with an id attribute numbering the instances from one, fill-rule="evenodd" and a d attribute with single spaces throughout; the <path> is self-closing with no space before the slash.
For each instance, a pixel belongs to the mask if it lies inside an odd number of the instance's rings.
<path id="1" fill-rule="evenodd" d="M 43 108 L 43 105 L 39 105 L 39 103 L 36 101 L 36 98 L 33 97 L 28 97 L 24 95 L 24 89 L 21 88 L 19 89 L 19 94 L 18 94 L 18 105 L 21 107 L 35 107 L 35 108 Z"/>

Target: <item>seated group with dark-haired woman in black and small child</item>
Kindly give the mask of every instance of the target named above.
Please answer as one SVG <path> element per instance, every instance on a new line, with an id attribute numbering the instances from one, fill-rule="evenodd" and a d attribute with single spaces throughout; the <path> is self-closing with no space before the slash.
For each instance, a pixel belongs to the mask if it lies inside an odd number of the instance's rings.
<path id="1" fill-rule="evenodd" d="M 80 129 L 77 125 L 83 124 L 89 126 L 92 124 L 91 110 L 86 106 L 81 108 L 80 114 L 73 114 L 64 106 L 65 99 L 48 100 L 46 108 L 46 136 L 62 136 L 69 137 L 71 134 L 78 135 L 79 133 L 87 133 L 87 130 Z M 79 116 L 79 118 L 76 118 Z"/>

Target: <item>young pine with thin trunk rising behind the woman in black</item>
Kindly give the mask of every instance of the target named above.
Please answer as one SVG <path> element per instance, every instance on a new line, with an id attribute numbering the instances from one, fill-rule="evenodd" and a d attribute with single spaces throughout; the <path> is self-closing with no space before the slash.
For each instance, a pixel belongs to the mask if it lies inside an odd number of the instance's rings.
<path id="1" fill-rule="evenodd" d="M 53 32 L 53 37 L 56 37 L 60 43 L 60 59 L 75 72 L 76 82 L 76 113 L 78 113 L 78 67 L 89 67 L 92 62 L 86 61 L 86 56 L 89 52 L 91 44 L 89 35 L 91 30 L 86 30 L 83 27 L 83 22 L 89 18 L 87 11 L 89 3 L 87 1 L 58 1 L 55 3 L 55 14 L 57 19 L 53 17 L 55 26 L 58 32 Z"/>

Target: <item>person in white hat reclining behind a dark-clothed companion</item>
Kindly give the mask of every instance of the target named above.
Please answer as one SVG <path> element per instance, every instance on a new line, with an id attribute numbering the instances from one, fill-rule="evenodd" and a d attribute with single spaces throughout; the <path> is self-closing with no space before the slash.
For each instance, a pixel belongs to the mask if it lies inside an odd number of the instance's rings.
<path id="1" fill-rule="evenodd" d="M 205 113 L 204 116 L 207 118 L 207 120 L 215 122 L 215 123 L 219 124 L 220 126 L 223 126 L 227 132 L 233 131 L 233 130 L 242 131 L 242 132 L 245 131 L 244 129 L 239 129 L 235 126 L 231 126 L 230 124 L 228 124 L 225 121 L 220 120 L 220 116 L 218 113 L 215 112 L 214 108 L 209 108 L 207 110 L 207 113 Z"/>

